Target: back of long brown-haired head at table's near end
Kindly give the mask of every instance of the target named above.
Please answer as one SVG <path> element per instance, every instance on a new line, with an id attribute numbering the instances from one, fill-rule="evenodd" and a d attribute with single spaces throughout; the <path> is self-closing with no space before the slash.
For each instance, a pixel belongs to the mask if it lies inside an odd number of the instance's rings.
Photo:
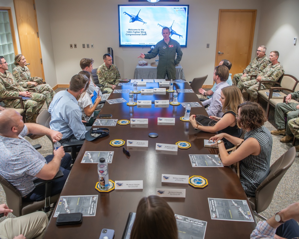
<path id="1" fill-rule="evenodd" d="M 143 197 L 138 204 L 130 239 L 178 239 L 173 210 L 158 196 Z"/>

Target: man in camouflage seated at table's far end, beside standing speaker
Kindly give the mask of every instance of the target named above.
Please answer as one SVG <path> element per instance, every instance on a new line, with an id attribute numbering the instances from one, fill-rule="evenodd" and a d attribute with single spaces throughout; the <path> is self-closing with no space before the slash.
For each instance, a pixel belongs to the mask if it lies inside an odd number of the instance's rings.
<path id="1" fill-rule="evenodd" d="M 103 85 L 101 91 L 108 91 L 108 94 L 110 94 L 118 84 L 117 80 L 120 79 L 120 74 L 116 65 L 112 64 L 110 54 L 105 54 L 103 59 L 103 65 L 97 68 L 97 76 L 99 77 L 99 84 Z"/>

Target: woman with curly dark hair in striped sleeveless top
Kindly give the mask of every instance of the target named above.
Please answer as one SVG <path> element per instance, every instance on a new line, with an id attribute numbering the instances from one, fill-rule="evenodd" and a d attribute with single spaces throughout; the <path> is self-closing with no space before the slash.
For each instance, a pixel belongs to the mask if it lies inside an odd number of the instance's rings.
<path id="1" fill-rule="evenodd" d="M 255 102 L 244 102 L 238 106 L 236 115 L 240 128 L 246 131 L 242 139 L 221 133 L 210 138 L 216 141 L 223 166 L 240 162 L 240 181 L 248 197 L 254 197 L 255 190 L 267 177 L 270 170 L 272 137 L 263 126 L 266 122 L 265 111 Z M 222 138 L 234 145 L 242 143 L 237 150 L 228 154 Z"/>

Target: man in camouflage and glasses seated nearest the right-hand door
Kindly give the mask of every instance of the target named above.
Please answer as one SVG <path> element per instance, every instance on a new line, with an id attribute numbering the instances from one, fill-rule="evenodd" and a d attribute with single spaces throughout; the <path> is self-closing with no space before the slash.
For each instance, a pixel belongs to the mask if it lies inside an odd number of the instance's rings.
<path id="1" fill-rule="evenodd" d="M 259 46 L 257 48 L 257 57 L 252 59 L 249 65 L 242 73 L 237 73 L 233 77 L 233 85 L 236 85 L 240 91 L 243 90 L 243 83 L 250 80 L 250 76 L 260 74 L 267 65 L 269 65 L 269 60 L 266 56 L 266 47 Z"/>

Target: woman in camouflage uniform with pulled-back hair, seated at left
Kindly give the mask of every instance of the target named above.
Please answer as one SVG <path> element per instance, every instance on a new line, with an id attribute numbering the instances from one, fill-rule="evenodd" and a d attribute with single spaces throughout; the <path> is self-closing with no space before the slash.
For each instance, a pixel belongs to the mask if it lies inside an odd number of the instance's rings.
<path id="1" fill-rule="evenodd" d="M 31 77 L 29 68 L 26 66 L 27 62 L 25 56 L 18 54 L 15 56 L 15 61 L 13 64 L 16 65 L 13 68 L 13 77 L 23 88 L 34 88 L 36 93 L 43 94 L 46 97 L 46 104 L 49 107 L 52 99 L 55 95 L 55 92 L 50 85 L 45 84 L 42 78 L 40 77 Z"/>

